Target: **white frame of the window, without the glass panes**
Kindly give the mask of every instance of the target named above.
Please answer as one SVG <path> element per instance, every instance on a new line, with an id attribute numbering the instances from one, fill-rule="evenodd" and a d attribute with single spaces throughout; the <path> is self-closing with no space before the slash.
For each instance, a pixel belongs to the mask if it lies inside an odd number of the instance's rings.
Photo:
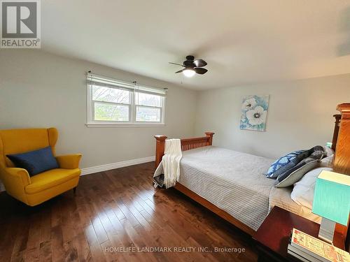
<path id="1" fill-rule="evenodd" d="M 111 78 L 106 78 L 111 80 Z M 115 80 L 116 82 L 119 82 L 119 80 Z M 132 86 L 131 84 L 129 84 Z M 113 127 L 113 126 L 120 126 L 120 127 L 127 127 L 127 126 L 165 126 L 165 103 L 167 100 L 166 93 L 165 95 L 162 94 L 156 94 L 156 93 L 150 93 L 150 92 L 142 92 L 138 89 L 137 85 L 132 86 L 132 88 L 127 88 L 128 92 L 130 92 L 130 103 L 114 103 L 111 101 L 97 101 L 92 99 L 92 90 L 94 84 L 87 82 L 87 119 L 86 119 L 86 126 L 87 127 Z M 116 88 L 116 89 L 125 89 L 124 87 L 119 87 L 116 85 L 116 87 L 111 86 L 104 86 L 104 85 L 98 85 L 95 84 L 95 86 L 101 86 L 101 87 L 108 87 L 108 88 Z M 153 87 L 146 87 L 147 89 L 152 89 Z M 160 96 L 161 99 L 161 107 L 152 106 L 152 105 L 137 105 L 136 104 L 136 93 L 145 93 L 145 94 L 153 94 L 155 96 Z M 94 104 L 95 103 L 105 103 L 105 104 L 113 104 L 113 105 L 127 105 L 129 106 L 129 121 L 104 121 L 104 120 L 95 120 L 94 119 Z M 160 108 L 160 121 L 159 122 L 146 122 L 146 121 L 137 121 L 137 107 L 140 108 Z"/>

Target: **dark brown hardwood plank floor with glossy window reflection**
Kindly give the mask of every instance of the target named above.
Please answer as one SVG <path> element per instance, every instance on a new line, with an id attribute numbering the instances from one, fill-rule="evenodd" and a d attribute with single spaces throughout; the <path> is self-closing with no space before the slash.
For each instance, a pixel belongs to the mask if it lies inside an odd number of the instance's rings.
<path id="1" fill-rule="evenodd" d="M 75 196 L 34 208 L 2 192 L 0 261 L 257 261 L 251 237 L 175 189 L 154 189 L 153 168 L 85 175 Z"/>

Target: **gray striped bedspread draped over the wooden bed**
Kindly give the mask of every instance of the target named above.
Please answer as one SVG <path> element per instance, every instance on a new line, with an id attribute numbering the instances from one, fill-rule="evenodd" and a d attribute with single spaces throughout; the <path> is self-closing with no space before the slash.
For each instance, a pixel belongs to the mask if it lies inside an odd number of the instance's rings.
<path id="1" fill-rule="evenodd" d="M 179 182 L 256 231 L 269 212 L 274 180 L 263 173 L 273 161 L 220 147 L 200 147 L 183 152 Z"/>

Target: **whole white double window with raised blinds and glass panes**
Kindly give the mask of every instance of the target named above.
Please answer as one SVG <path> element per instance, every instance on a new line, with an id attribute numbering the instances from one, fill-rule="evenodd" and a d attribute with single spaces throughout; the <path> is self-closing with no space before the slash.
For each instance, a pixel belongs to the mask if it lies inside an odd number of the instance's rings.
<path id="1" fill-rule="evenodd" d="M 166 89 L 87 74 L 87 125 L 164 124 Z"/>

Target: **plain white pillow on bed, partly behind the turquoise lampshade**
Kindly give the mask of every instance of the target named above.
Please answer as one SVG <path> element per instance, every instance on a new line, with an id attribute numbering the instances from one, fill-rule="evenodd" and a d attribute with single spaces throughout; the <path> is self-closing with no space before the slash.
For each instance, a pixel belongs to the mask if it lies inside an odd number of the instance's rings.
<path id="1" fill-rule="evenodd" d="M 295 203 L 312 209 L 312 202 L 314 202 L 316 178 L 322 170 L 331 171 L 332 168 L 315 168 L 306 173 L 301 180 L 294 184 L 293 191 L 290 194 L 290 197 Z"/>

